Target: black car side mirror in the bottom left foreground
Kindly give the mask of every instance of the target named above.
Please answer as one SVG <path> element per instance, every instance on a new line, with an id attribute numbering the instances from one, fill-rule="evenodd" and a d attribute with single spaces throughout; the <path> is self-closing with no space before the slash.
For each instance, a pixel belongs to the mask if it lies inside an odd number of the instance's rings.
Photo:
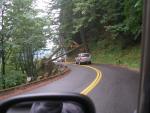
<path id="1" fill-rule="evenodd" d="M 95 113 L 89 97 L 81 94 L 30 94 L 0 103 L 1 113 Z"/>

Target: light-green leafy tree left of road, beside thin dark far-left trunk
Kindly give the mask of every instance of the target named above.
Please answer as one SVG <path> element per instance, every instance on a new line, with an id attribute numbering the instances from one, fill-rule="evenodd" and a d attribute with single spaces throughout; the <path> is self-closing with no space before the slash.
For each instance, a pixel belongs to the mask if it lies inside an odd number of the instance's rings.
<path id="1" fill-rule="evenodd" d="M 36 76 L 36 64 L 33 61 L 34 53 L 45 47 L 46 37 L 43 27 L 46 21 L 36 17 L 37 12 L 32 8 L 33 0 L 13 0 L 10 9 L 4 18 L 5 31 L 10 31 L 11 40 L 6 42 L 6 47 L 11 47 L 11 62 L 19 65 L 28 76 Z M 7 18 L 10 18 L 7 21 Z M 7 26 L 8 24 L 8 26 Z M 11 27 L 9 27 L 11 26 Z M 7 50 L 7 48 L 6 48 Z"/>

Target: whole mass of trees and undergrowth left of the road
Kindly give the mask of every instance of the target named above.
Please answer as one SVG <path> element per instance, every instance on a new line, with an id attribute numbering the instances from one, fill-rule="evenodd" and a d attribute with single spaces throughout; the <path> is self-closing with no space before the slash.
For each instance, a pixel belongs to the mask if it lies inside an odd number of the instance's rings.
<path id="1" fill-rule="evenodd" d="M 35 7 L 35 0 L 0 1 L 0 90 L 51 76 L 57 68 L 51 58 L 41 57 L 52 40 L 50 21 Z"/>

